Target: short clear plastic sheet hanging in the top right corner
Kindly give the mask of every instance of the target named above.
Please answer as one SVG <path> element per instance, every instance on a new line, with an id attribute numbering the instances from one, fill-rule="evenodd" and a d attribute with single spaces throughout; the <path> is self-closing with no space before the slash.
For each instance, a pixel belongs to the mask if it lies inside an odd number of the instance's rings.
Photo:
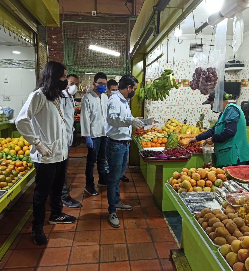
<path id="1" fill-rule="evenodd" d="M 244 33 L 244 20 L 242 11 L 239 12 L 233 21 L 233 54 L 237 59 L 237 52 L 240 48 L 240 45 L 243 42 L 243 33 Z"/>

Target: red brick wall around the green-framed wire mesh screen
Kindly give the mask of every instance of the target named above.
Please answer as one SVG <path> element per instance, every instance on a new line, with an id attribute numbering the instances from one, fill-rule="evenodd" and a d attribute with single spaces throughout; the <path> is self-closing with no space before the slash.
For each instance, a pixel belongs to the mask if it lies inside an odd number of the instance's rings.
<path id="1" fill-rule="evenodd" d="M 60 27 L 47 27 L 47 41 L 49 47 L 49 61 L 64 61 L 64 53 L 63 53 L 63 38 L 62 38 L 62 27 L 61 21 L 75 21 L 75 22 L 115 22 L 115 23 L 127 23 L 128 18 L 123 17 L 100 17 L 97 16 L 82 16 L 82 15 L 64 15 L 64 19 L 62 15 L 60 15 Z M 130 31 L 134 26 L 135 21 L 130 22 Z M 128 39 L 127 39 L 128 44 Z M 127 50 L 128 52 L 128 50 Z"/>

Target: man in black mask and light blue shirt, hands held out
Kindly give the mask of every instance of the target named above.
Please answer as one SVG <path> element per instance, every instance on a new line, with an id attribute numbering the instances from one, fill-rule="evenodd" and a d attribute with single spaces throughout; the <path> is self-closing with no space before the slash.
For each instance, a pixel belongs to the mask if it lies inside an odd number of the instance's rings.
<path id="1" fill-rule="evenodd" d="M 118 90 L 109 98 L 107 104 L 107 160 L 110 169 L 107 181 L 107 200 L 109 204 L 109 223 L 119 227 L 116 210 L 131 210 L 119 197 L 120 177 L 125 172 L 128 162 L 128 152 L 131 141 L 132 126 L 144 127 L 158 121 L 132 117 L 128 98 L 131 99 L 138 85 L 138 80 L 132 75 L 124 75 L 119 80 Z"/>

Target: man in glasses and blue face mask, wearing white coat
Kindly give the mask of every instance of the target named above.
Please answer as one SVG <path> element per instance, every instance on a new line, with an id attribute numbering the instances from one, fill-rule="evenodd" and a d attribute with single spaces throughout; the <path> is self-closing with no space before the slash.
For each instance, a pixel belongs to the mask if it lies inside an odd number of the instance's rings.
<path id="1" fill-rule="evenodd" d="M 107 186 L 107 174 L 105 173 L 105 147 L 106 137 L 106 113 L 108 98 L 104 92 L 107 90 L 107 76 L 98 72 L 94 76 L 93 89 L 82 97 L 80 128 L 81 136 L 86 137 L 88 154 L 86 157 L 86 187 L 85 191 L 90 195 L 98 195 L 95 189 L 93 169 L 97 162 L 99 173 L 99 186 Z"/>

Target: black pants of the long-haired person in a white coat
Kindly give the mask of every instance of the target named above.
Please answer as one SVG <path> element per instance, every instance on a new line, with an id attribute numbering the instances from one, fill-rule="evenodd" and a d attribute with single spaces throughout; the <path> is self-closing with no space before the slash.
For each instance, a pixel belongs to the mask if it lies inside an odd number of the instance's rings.
<path id="1" fill-rule="evenodd" d="M 34 163 L 36 170 L 33 198 L 33 226 L 43 225 L 49 195 L 51 214 L 61 213 L 61 191 L 65 182 L 66 160 L 51 164 Z"/>

